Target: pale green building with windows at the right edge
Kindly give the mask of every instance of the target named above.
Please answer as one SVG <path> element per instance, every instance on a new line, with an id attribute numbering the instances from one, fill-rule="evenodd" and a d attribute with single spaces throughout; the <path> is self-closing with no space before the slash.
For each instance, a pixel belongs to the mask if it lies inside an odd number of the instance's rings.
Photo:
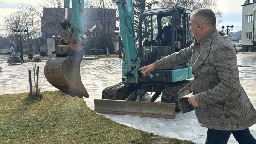
<path id="1" fill-rule="evenodd" d="M 242 52 L 256 52 L 256 0 L 246 0 L 242 9 Z"/>

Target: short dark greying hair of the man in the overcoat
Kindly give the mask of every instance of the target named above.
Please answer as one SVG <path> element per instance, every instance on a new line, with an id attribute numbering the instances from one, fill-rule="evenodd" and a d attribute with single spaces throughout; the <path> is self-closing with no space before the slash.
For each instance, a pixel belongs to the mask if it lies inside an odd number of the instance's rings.
<path id="1" fill-rule="evenodd" d="M 191 17 L 204 21 L 207 26 L 216 26 L 216 16 L 211 9 L 196 9 L 191 13 Z"/>

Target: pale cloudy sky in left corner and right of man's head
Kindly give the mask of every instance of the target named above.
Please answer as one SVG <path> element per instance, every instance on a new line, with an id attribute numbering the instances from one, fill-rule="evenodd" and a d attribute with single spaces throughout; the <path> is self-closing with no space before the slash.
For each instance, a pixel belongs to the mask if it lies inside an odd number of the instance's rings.
<path id="1" fill-rule="evenodd" d="M 0 0 L 0 23 L 3 23 L 4 17 L 17 11 L 17 8 L 22 3 L 37 4 L 42 0 Z M 234 30 L 242 29 L 242 6 L 245 0 L 217 0 L 218 9 L 223 13 L 222 21 L 217 27 L 234 26 Z"/>

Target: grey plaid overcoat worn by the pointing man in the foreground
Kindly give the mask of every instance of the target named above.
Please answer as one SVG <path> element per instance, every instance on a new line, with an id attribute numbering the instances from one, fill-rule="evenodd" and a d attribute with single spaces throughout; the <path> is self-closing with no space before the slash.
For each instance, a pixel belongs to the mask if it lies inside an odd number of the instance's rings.
<path id="1" fill-rule="evenodd" d="M 256 110 L 240 84 L 236 52 L 230 37 L 217 29 L 200 52 L 200 44 L 158 60 L 160 69 L 192 60 L 195 114 L 201 126 L 215 130 L 244 130 L 256 123 Z"/>

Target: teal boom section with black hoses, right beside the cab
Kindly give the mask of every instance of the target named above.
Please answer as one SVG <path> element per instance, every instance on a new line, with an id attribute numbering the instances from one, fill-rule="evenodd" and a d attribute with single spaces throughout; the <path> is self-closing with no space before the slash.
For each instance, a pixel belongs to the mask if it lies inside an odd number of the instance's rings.
<path id="1" fill-rule="evenodd" d="M 117 4 L 125 56 L 124 83 L 138 83 L 138 69 L 140 57 L 137 55 L 137 46 L 134 30 L 134 13 L 132 0 L 113 0 Z"/>

